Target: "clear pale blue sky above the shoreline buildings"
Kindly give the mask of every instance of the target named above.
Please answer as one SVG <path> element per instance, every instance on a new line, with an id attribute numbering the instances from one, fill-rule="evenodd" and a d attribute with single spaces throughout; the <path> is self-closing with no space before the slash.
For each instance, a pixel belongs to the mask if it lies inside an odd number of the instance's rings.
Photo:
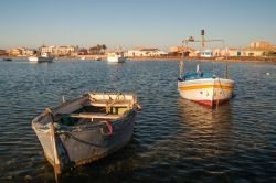
<path id="1" fill-rule="evenodd" d="M 1 0 L 0 49 L 106 44 L 108 49 L 181 45 L 224 39 L 276 44 L 275 0 Z"/>

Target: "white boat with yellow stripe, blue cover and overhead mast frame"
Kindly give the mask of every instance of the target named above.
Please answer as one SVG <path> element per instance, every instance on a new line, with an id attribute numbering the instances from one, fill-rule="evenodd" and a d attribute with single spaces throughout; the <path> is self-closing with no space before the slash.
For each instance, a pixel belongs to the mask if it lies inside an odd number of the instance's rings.
<path id="1" fill-rule="evenodd" d="M 202 30 L 202 41 L 194 41 L 192 36 L 184 40 L 188 42 L 202 42 L 204 45 L 204 30 Z M 210 40 L 223 41 L 223 40 Z M 188 45 L 187 45 L 188 47 Z M 197 67 L 195 73 L 188 73 L 182 76 L 183 62 L 180 63 L 180 76 L 178 79 L 178 90 L 181 97 L 210 107 L 219 106 L 227 101 L 233 96 L 234 80 L 229 78 L 226 64 L 226 78 L 221 78 L 215 74 L 208 74 Z"/>

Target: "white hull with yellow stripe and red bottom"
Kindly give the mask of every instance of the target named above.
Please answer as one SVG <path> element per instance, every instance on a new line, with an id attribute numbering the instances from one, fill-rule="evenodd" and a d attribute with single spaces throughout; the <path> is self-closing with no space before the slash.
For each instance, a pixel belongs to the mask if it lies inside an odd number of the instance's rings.
<path id="1" fill-rule="evenodd" d="M 181 97 L 208 106 L 215 106 L 232 98 L 234 82 L 224 78 L 202 78 L 178 82 Z"/>

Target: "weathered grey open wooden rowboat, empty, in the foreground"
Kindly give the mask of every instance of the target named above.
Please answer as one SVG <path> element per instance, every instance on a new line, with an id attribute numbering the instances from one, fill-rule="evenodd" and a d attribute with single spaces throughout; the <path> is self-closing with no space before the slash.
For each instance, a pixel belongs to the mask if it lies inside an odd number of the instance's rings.
<path id="1" fill-rule="evenodd" d="M 46 108 L 32 120 L 32 128 L 59 174 L 126 146 L 138 109 L 137 97 L 131 94 L 87 93 Z"/>

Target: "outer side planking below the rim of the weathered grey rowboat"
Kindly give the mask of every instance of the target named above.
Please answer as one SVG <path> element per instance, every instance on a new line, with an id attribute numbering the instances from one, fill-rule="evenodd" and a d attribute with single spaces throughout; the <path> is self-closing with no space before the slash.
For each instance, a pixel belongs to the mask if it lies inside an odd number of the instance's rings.
<path id="1" fill-rule="evenodd" d="M 129 118 L 113 123 L 113 133 L 104 132 L 106 126 L 91 130 L 61 132 L 55 139 L 60 152 L 59 157 L 63 160 L 60 171 L 63 172 L 71 166 L 89 163 L 121 149 L 131 140 L 134 121 L 135 112 Z M 35 132 L 43 147 L 44 155 L 54 166 L 55 158 L 53 142 L 49 136 L 50 131 L 35 130 Z"/>

